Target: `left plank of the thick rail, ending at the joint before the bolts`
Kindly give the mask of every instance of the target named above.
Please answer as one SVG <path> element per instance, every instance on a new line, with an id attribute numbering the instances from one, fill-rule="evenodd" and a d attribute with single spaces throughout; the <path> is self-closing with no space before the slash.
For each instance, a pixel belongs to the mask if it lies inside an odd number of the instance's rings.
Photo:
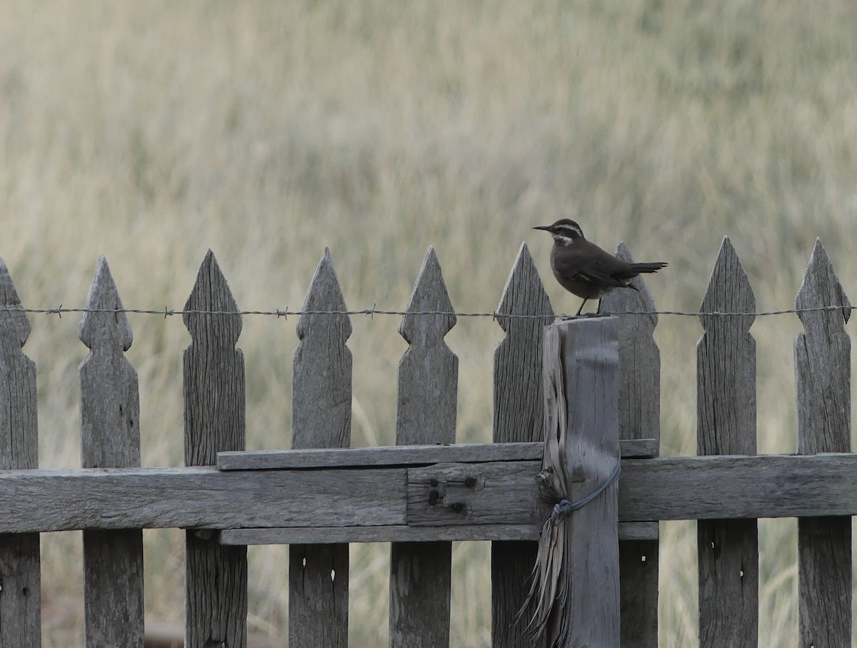
<path id="1" fill-rule="evenodd" d="M 406 475 L 406 468 L 7 471 L 0 472 L 0 532 L 405 524 Z"/>

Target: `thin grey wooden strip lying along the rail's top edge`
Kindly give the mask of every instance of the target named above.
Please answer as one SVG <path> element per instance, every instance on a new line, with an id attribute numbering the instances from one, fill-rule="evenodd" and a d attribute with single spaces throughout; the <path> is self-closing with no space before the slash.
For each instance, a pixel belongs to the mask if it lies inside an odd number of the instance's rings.
<path id="1" fill-rule="evenodd" d="M 623 459 L 657 456 L 656 439 L 620 439 Z M 544 443 L 435 443 L 434 445 L 374 446 L 296 450 L 219 452 L 220 470 L 281 468 L 346 468 L 372 466 L 428 466 L 433 463 L 542 460 Z"/>

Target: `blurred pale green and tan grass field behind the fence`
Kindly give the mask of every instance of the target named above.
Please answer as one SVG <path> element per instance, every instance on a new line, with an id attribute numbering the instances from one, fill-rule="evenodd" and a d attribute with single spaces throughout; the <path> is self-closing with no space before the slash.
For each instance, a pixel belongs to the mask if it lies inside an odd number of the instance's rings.
<path id="1" fill-rule="evenodd" d="M 492 310 L 528 241 L 557 312 L 559 217 L 666 259 L 693 310 L 723 235 L 760 310 L 816 236 L 857 296 L 857 7 L 794 0 L 522 3 L 6 0 L 0 257 L 25 306 L 83 306 L 99 254 L 126 306 L 183 306 L 210 247 L 239 306 L 297 307 L 329 246 L 349 306 L 407 303 L 429 245 L 453 305 Z M 179 318 L 132 315 L 145 465 L 182 458 Z M 40 461 L 79 466 L 78 319 L 33 315 Z M 391 317 L 355 318 L 353 443 L 392 443 Z M 295 323 L 245 318 L 248 444 L 290 437 Z M 760 452 L 794 450 L 793 316 L 758 318 Z M 693 454 L 694 318 L 661 318 L 665 454 Z M 458 440 L 488 441 L 501 331 L 460 318 Z M 794 520 L 763 520 L 760 644 L 795 645 Z M 146 532 L 147 618 L 181 622 L 183 544 Z M 696 533 L 662 525 L 661 645 L 696 645 Z M 45 645 L 82 645 L 79 533 L 43 536 Z M 387 641 L 387 548 L 352 549 L 351 640 Z M 285 633 L 286 552 L 251 548 L 250 627 Z M 454 551 L 452 645 L 489 644 L 487 544 Z"/>

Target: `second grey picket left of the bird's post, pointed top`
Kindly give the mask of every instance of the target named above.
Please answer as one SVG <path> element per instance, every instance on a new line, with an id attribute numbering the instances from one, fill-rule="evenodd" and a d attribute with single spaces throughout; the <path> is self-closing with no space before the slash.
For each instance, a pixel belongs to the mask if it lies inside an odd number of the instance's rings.
<path id="1" fill-rule="evenodd" d="M 434 248 L 428 248 L 407 312 L 452 312 Z M 410 344 L 399 361 L 396 443 L 455 443 L 458 357 L 443 338 L 454 315 L 405 315 Z M 410 476 L 409 476 L 410 479 Z M 409 520 L 410 523 L 410 520 Z M 452 544 L 393 543 L 390 548 L 390 643 L 449 645 Z"/>

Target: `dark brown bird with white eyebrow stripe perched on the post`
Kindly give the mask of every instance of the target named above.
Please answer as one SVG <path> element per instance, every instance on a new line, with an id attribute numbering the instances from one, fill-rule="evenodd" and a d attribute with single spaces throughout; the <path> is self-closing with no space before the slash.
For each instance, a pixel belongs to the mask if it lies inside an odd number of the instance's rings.
<path id="1" fill-rule="evenodd" d="M 601 298 L 614 288 L 633 288 L 629 281 L 640 272 L 657 272 L 666 267 L 663 261 L 647 264 L 628 264 L 604 252 L 595 243 L 584 237 L 578 223 L 562 218 L 553 225 L 539 225 L 533 229 L 543 229 L 554 237 L 554 248 L 550 251 L 550 267 L 556 280 L 563 288 L 578 297 L 583 304 L 576 315 L 584 309 L 587 300 L 598 300 L 601 311 Z"/>

